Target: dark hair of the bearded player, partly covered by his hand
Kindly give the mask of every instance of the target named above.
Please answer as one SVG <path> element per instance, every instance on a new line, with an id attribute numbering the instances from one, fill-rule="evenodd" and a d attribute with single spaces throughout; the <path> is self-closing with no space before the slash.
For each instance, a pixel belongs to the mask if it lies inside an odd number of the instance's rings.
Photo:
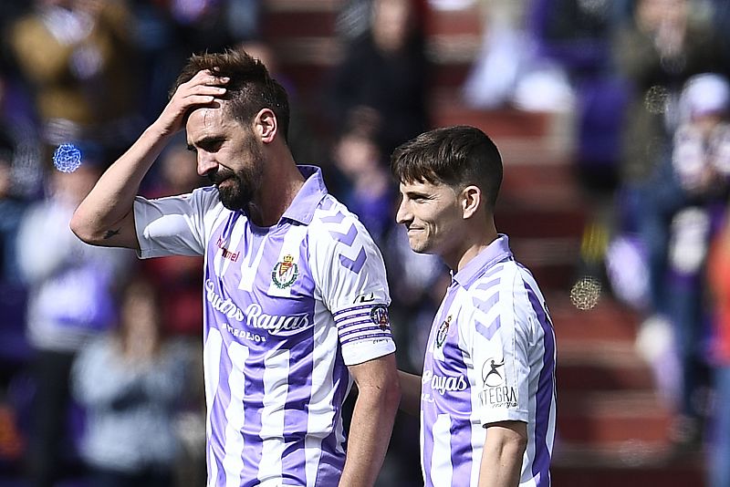
<path id="1" fill-rule="evenodd" d="M 287 90 L 271 78 L 259 59 L 249 56 L 243 49 L 226 49 L 222 53 L 193 55 L 175 81 L 170 96 L 183 83 L 190 81 L 198 71 L 208 69 L 219 77 L 230 78 L 226 83 L 226 100 L 230 100 L 233 117 L 248 123 L 261 109 L 271 109 L 276 115 L 279 130 L 288 140 L 289 100 Z"/>

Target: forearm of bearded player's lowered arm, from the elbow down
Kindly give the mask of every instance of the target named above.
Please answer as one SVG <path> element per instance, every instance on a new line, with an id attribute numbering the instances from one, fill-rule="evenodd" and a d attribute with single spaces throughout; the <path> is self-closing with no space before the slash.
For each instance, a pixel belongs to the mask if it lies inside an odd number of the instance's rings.
<path id="1" fill-rule="evenodd" d="M 370 487 L 378 478 L 400 401 L 398 382 L 359 389 L 349 429 L 348 456 L 340 487 Z"/>

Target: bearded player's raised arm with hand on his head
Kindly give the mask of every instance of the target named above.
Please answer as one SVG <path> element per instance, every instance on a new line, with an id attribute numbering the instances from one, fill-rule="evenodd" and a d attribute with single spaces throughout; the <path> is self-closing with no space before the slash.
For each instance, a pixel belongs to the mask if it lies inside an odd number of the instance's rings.
<path id="1" fill-rule="evenodd" d="M 139 250 L 133 206 L 142 178 L 172 136 L 183 129 L 190 109 L 214 103 L 216 96 L 224 94 L 225 88 L 219 85 L 226 81 L 201 71 L 180 85 L 160 117 L 104 172 L 78 205 L 70 223 L 78 238 L 87 244 Z"/>

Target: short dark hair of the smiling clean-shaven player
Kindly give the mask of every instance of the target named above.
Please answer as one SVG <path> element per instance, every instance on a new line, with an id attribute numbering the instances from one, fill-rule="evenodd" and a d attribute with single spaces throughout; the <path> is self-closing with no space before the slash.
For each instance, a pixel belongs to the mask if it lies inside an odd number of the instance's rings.
<path id="1" fill-rule="evenodd" d="M 391 171 L 401 182 L 427 181 L 459 189 L 474 184 L 494 210 L 502 184 L 502 156 L 482 130 L 444 127 L 401 144 L 391 156 Z"/>

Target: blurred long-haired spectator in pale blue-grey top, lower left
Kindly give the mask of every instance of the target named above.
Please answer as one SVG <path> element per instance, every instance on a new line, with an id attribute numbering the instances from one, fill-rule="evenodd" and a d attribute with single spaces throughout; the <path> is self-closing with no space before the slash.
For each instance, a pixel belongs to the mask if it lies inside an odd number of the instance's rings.
<path id="1" fill-rule="evenodd" d="M 81 455 L 94 486 L 172 487 L 182 358 L 163 336 L 154 286 L 133 279 L 121 294 L 118 328 L 85 347 L 72 370 L 87 412 Z"/>

